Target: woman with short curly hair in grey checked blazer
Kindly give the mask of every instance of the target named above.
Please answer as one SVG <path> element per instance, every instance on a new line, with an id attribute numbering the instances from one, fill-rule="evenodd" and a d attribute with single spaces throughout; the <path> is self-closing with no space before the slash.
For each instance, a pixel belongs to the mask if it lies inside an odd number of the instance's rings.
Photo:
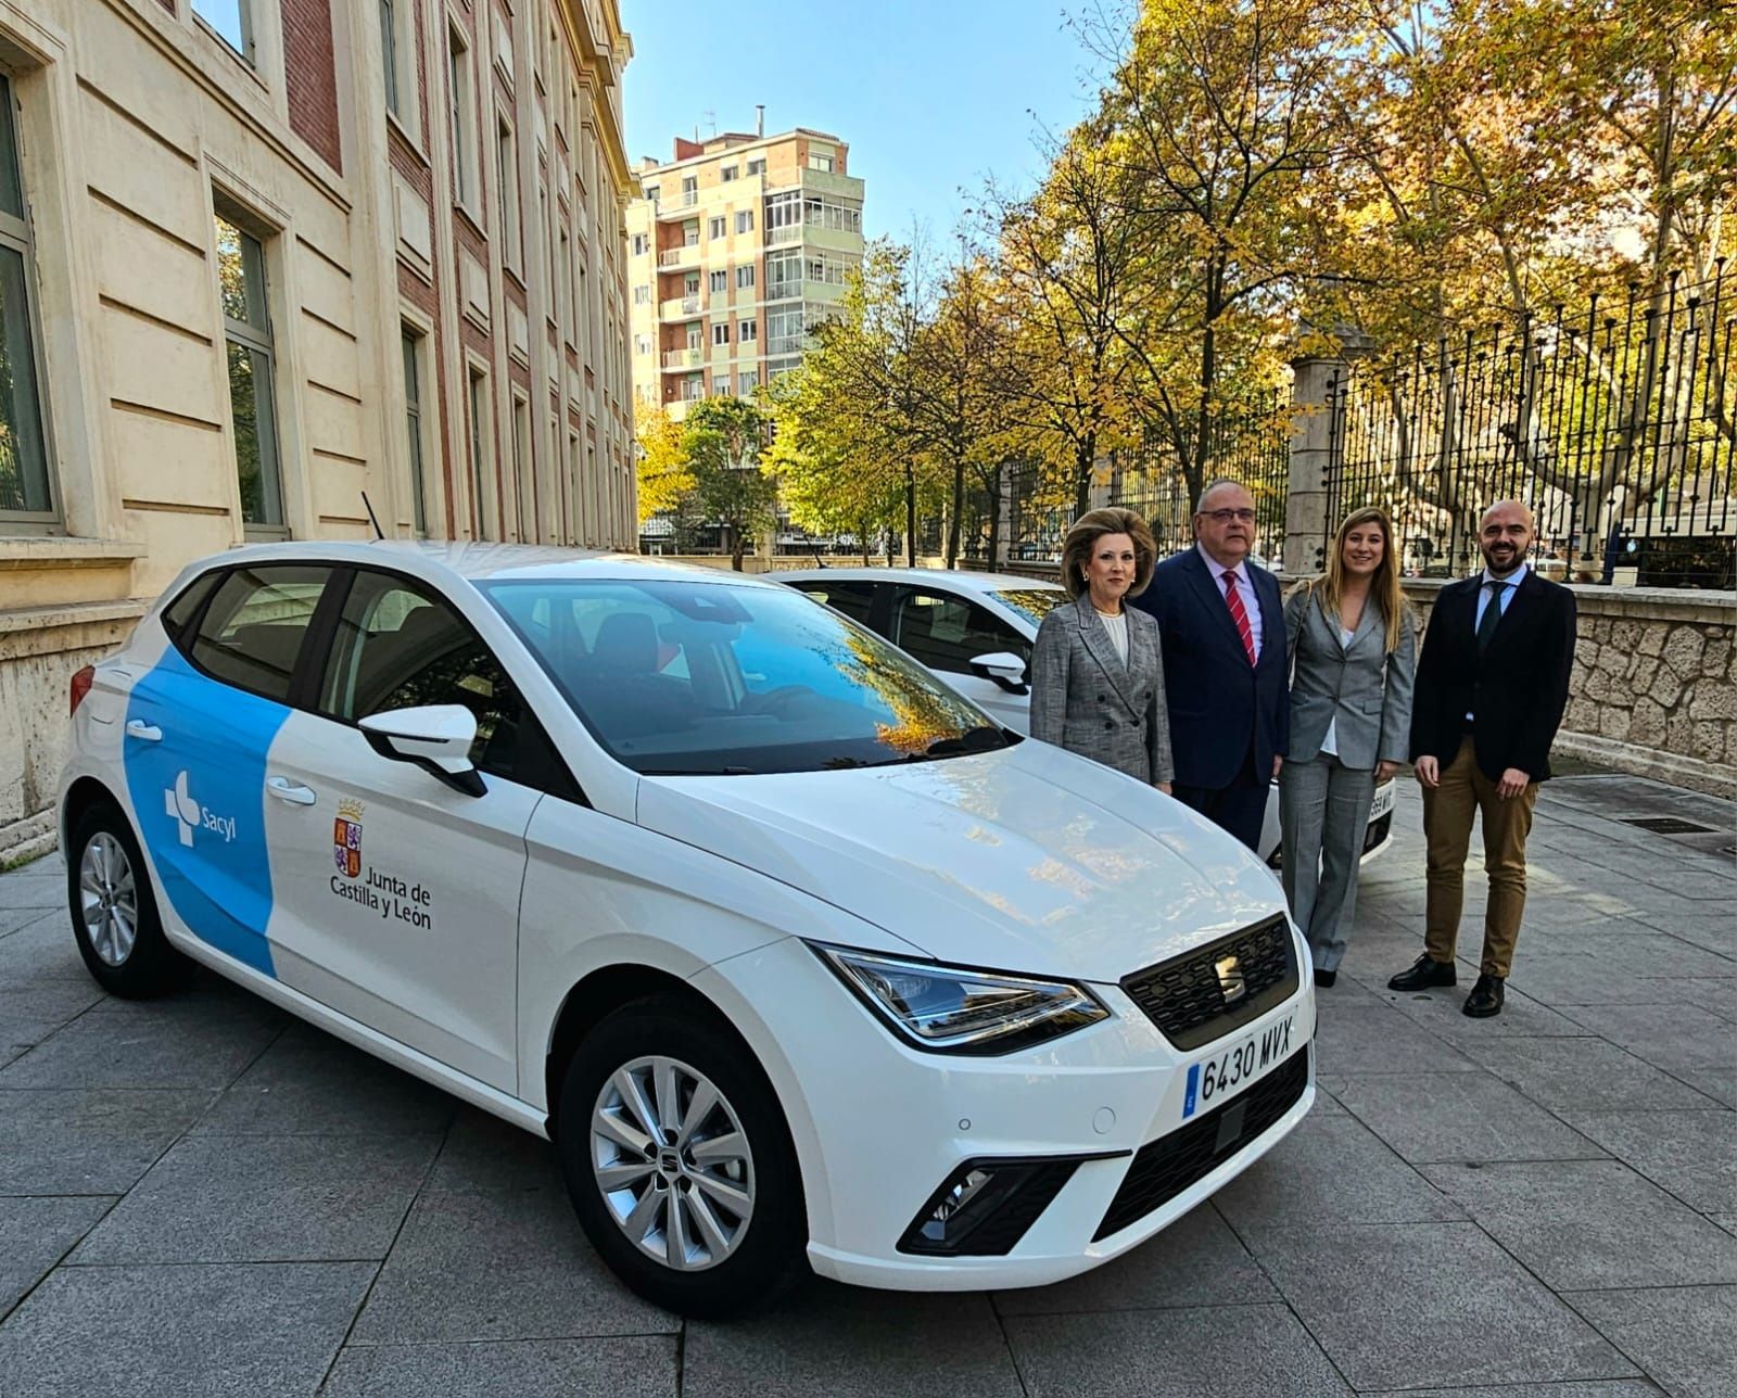
<path id="1" fill-rule="evenodd" d="M 1169 792 L 1171 724 L 1164 707 L 1159 623 L 1124 606 L 1152 582 L 1157 545 L 1127 509 L 1082 514 L 1061 545 L 1073 606 L 1037 629 L 1032 736 Z"/>

